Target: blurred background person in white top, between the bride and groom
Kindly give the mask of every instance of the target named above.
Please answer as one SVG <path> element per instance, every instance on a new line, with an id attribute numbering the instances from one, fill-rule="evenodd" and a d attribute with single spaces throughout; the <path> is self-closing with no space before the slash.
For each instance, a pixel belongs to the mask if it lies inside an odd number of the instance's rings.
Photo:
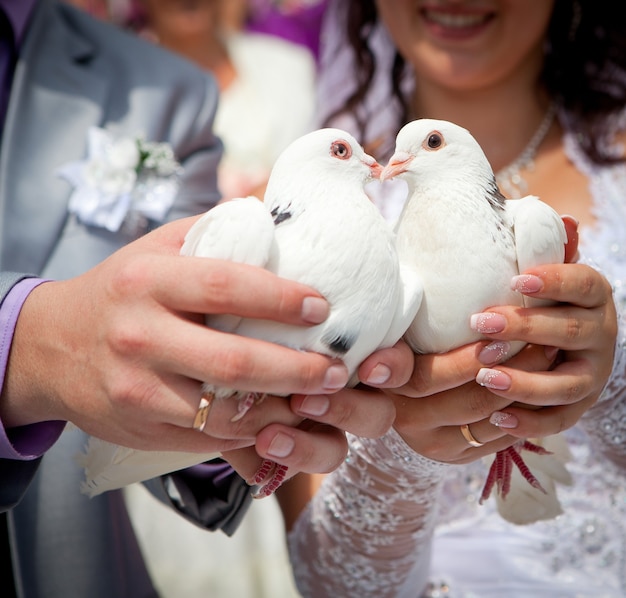
<path id="1" fill-rule="evenodd" d="M 131 16 L 128 25 L 139 34 L 213 73 L 223 199 L 262 199 L 280 152 L 311 129 L 312 54 L 277 35 L 248 31 L 246 3 L 239 0 L 136 0 Z"/>

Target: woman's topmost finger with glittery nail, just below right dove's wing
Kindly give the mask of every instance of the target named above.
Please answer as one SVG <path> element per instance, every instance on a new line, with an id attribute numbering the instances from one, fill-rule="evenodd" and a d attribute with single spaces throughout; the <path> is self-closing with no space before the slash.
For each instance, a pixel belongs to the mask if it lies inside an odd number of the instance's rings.
<path id="1" fill-rule="evenodd" d="M 597 307 L 611 300 L 611 286 L 599 272 L 585 264 L 548 264 L 513 278 L 512 287 L 524 295 Z"/>

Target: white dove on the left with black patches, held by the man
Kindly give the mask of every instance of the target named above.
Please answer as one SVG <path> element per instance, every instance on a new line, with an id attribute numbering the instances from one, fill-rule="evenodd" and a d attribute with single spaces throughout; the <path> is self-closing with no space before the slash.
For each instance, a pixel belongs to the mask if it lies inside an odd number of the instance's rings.
<path id="1" fill-rule="evenodd" d="M 209 210 L 188 232 L 181 254 L 253 264 L 307 284 L 328 300 L 330 315 L 309 328 L 234 316 L 208 316 L 206 324 L 341 358 L 355 384 L 361 361 L 402 337 L 420 299 L 417 277 L 400 268 L 391 227 L 363 190 L 380 171 L 349 133 L 320 129 L 281 154 L 264 202 L 240 198 Z M 203 394 L 211 393 L 236 397 L 236 418 L 262 398 L 204 384 Z M 99 494 L 214 456 L 136 451 L 92 438 L 82 458 L 83 491 Z M 271 494 L 284 476 L 284 467 L 264 462 L 257 496 Z"/>

